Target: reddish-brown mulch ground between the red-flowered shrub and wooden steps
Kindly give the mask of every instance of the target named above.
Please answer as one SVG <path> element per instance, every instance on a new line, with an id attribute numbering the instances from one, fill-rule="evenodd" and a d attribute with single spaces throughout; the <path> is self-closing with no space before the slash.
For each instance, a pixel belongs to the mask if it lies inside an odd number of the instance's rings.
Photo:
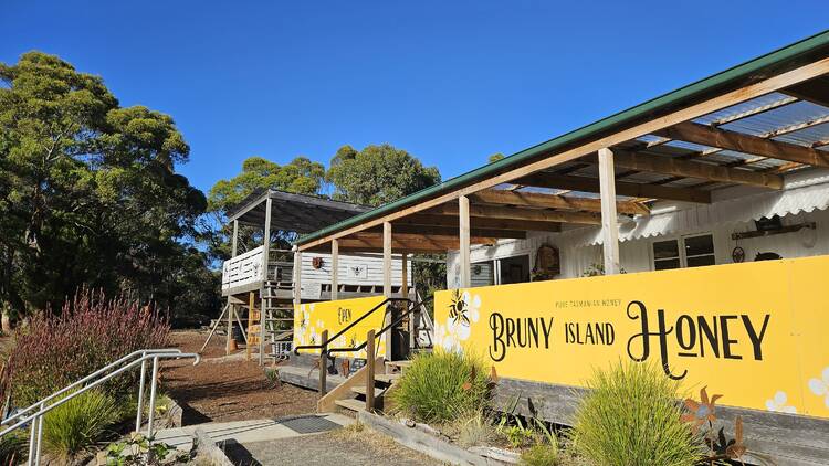
<path id="1" fill-rule="evenodd" d="M 170 346 L 197 352 L 207 332 L 175 331 Z M 244 351 L 243 349 L 241 351 Z M 224 356 L 224 337 L 214 336 L 202 362 L 165 364 L 161 385 L 183 409 L 183 425 L 218 421 L 274 419 L 316 411 L 317 393 L 294 385 L 273 385 L 254 360 L 210 361 Z"/>

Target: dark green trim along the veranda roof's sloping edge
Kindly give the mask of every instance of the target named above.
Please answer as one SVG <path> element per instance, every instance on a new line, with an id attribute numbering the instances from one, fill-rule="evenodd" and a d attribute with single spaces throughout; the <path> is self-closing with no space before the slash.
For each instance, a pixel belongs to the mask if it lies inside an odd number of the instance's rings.
<path id="1" fill-rule="evenodd" d="M 420 201 L 436 198 L 457 189 L 461 189 L 483 178 L 486 178 L 490 174 L 497 174 L 506 171 L 507 169 L 513 169 L 520 166 L 522 162 L 532 160 L 533 158 L 538 157 L 543 153 L 554 151 L 568 145 L 573 145 L 579 140 L 587 140 L 604 131 L 608 131 L 617 127 L 630 125 L 637 121 L 639 118 L 642 118 L 649 114 L 659 113 L 660 110 L 664 110 L 667 108 L 683 104 L 688 105 L 691 100 L 699 99 L 710 93 L 721 91 L 730 85 L 752 78 L 754 74 L 759 73 L 764 70 L 784 67 L 784 65 L 786 64 L 796 63 L 798 59 L 801 59 L 815 52 L 819 52 L 822 47 L 827 46 L 829 46 L 829 30 L 800 40 L 798 42 L 795 42 L 794 44 L 784 46 L 774 52 L 769 52 L 743 64 L 733 66 L 706 78 L 696 81 L 686 86 L 680 87 L 676 91 L 663 94 L 659 97 L 630 107 L 627 110 L 619 112 L 587 126 L 583 126 L 581 128 L 566 133 L 546 142 L 529 147 L 527 149 L 513 153 L 510 157 L 505 157 L 496 162 L 479 167 L 466 173 L 460 174 L 441 183 L 424 188 L 418 192 L 400 198 L 397 201 L 351 216 L 333 225 L 326 226 L 325 229 L 318 230 L 314 233 L 303 235 L 297 239 L 294 244 L 302 245 L 305 243 L 309 243 L 332 233 L 336 233 L 340 230 L 345 230 L 360 223 L 375 220 L 399 209 L 410 206 Z"/>

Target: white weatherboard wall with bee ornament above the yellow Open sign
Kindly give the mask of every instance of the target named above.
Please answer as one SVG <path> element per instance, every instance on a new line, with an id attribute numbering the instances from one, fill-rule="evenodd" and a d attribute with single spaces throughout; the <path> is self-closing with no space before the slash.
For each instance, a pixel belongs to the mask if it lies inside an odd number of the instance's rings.
<path id="1" fill-rule="evenodd" d="M 314 268 L 314 257 L 321 257 L 323 264 Z M 330 254 L 302 253 L 302 284 L 303 287 L 311 283 L 330 284 Z M 409 273 L 407 274 L 411 285 L 411 261 L 407 262 Z M 354 273 L 355 267 L 365 267 L 365 273 Z M 376 285 L 382 286 L 382 256 L 379 254 L 339 255 L 339 284 L 340 285 Z M 402 266 L 399 255 L 391 256 L 391 285 L 399 286 L 402 283 Z"/>

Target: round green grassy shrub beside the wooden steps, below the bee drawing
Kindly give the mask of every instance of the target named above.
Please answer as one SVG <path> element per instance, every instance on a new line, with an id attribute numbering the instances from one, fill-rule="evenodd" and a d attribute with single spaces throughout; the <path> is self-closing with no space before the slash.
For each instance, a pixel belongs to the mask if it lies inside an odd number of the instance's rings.
<path id="1" fill-rule="evenodd" d="M 392 392 L 392 399 L 418 421 L 443 423 L 458 413 L 484 407 L 487 385 L 489 378 L 480 359 L 438 350 L 414 357 Z"/>

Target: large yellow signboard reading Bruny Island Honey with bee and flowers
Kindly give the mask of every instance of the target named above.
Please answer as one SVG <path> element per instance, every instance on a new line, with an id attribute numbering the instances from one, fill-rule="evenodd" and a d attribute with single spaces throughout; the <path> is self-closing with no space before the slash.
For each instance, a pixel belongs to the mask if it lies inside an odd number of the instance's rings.
<path id="1" fill-rule="evenodd" d="M 829 256 L 436 293 L 436 345 L 584 386 L 647 361 L 723 404 L 829 419 Z"/>

